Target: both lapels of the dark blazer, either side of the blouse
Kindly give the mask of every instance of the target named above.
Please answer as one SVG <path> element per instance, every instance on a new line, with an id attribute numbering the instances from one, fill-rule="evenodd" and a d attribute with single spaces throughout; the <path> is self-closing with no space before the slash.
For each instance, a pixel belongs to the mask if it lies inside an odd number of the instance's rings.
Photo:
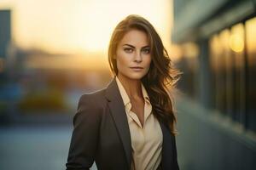
<path id="1" fill-rule="evenodd" d="M 106 98 L 108 99 L 108 105 L 110 112 L 113 116 L 113 121 L 116 124 L 116 127 L 119 132 L 120 139 L 125 149 L 126 160 L 131 168 L 131 133 L 129 124 L 127 121 L 125 113 L 125 105 L 122 100 L 121 94 L 119 93 L 119 88 L 115 78 L 108 83 L 106 88 Z M 172 159 L 173 159 L 173 145 L 172 145 L 172 134 L 170 130 L 160 122 L 160 127 L 163 133 L 163 144 L 162 144 L 162 160 L 161 166 L 162 169 L 171 169 L 172 168 Z"/>

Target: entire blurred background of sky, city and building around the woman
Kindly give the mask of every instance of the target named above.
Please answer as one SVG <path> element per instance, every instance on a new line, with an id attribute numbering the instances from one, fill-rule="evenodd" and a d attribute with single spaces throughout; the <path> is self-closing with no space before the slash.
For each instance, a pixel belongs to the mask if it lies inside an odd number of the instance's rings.
<path id="1" fill-rule="evenodd" d="M 256 0 L 0 0 L 0 169 L 65 169 L 79 97 L 110 81 L 128 14 L 183 71 L 180 169 L 256 169 Z"/>

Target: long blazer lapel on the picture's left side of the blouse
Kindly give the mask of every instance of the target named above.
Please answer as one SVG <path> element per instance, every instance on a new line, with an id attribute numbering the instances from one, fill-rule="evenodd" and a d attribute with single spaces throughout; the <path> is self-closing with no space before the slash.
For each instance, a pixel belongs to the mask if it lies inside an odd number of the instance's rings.
<path id="1" fill-rule="evenodd" d="M 131 134 L 126 117 L 125 105 L 115 78 L 108 84 L 106 89 L 108 105 L 113 116 L 113 120 L 119 132 L 119 137 L 124 145 L 126 160 L 131 168 Z"/>

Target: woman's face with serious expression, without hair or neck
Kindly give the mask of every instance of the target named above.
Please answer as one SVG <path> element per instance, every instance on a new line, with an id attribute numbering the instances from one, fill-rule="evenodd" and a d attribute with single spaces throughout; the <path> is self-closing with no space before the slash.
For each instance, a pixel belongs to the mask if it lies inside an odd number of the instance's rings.
<path id="1" fill-rule="evenodd" d="M 119 42 L 116 52 L 118 77 L 143 78 L 150 67 L 151 54 L 147 34 L 143 31 L 128 31 Z"/>

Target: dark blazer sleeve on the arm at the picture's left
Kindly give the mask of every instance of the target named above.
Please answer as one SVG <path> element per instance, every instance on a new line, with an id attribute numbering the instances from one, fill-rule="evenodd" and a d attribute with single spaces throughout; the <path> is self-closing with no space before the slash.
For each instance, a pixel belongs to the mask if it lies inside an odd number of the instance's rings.
<path id="1" fill-rule="evenodd" d="M 94 162 L 100 127 L 100 112 L 91 94 L 79 99 L 73 116 L 73 133 L 67 156 L 67 170 L 90 169 Z"/>

